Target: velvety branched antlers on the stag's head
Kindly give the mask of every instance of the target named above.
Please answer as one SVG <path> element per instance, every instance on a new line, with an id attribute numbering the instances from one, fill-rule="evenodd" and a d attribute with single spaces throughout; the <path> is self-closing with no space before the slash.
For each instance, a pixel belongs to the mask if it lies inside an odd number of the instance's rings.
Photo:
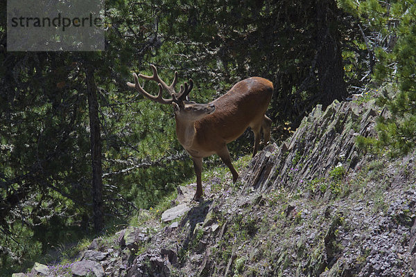
<path id="1" fill-rule="evenodd" d="M 150 100 L 153 100 L 155 102 L 159 102 L 161 104 L 171 104 L 172 102 L 177 102 L 179 104 L 180 102 L 187 99 L 187 96 L 188 96 L 189 92 L 191 91 L 191 89 L 193 87 L 192 79 L 189 79 L 189 87 L 188 87 L 188 83 L 185 82 L 183 85 L 182 84 L 180 85 L 180 92 L 176 93 L 175 92 L 175 85 L 177 83 L 177 71 L 175 71 L 175 78 L 173 78 L 173 81 L 172 81 L 171 85 L 168 86 L 162 80 L 162 78 L 159 77 L 159 74 L 157 73 L 156 66 L 154 66 L 153 64 L 150 64 L 150 69 L 152 69 L 153 75 L 147 76 L 147 75 L 139 74 L 139 77 L 144 79 L 144 80 L 153 80 L 153 81 L 157 82 L 157 84 L 159 85 L 159 93 L 157 94 L 157 96 L 151 95 L 150 93 L 145 91 L 143 89 L 143 87 L 141 87 L 141 85 L 139 83 L 139 78 L 137 77 L 136 73 L 133 73 L 133 78 L 135 78 L 135 84 L 132 84 L 131 82 L 128 82 L 127 85 L 129 87 L 132 87 L 132 88 L 136 89 L 137 91 L 139 91 L 146 98 L 148 98 Z M 162 97 L 162 91 L 164 89 L 166 89 L 166 91 L 168 91 L 168 93 L 171 94 L 172 98 L 165 99 L 165 98 Z"/>

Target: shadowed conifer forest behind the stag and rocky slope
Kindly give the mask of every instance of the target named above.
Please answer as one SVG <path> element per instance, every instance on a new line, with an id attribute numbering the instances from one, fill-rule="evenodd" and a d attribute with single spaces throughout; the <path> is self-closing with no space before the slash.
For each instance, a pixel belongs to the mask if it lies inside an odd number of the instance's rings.
<path id="1" fill-rule="evenodd" d="M 393 116 L 361 144 L 414 147 L 414 1 L 106 1 L 105 51 L 90 53 L 8 52 L 0 5 L 0 274 L 114 231 L 193 177 L 171 107 L 125 84 L 149 64 L 166 82 L 192 78 L 196 102 L 272 81 L 277 143 L 315 105 L 380 90 Z M 251 136 L 230 152 L 250 152 Z"/>

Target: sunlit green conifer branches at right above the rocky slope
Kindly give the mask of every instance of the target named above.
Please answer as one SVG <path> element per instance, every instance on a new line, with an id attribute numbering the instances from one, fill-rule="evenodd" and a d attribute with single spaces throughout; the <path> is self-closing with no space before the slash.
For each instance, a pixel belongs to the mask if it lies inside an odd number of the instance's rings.
<path id="1" fill-rule="evenodd" d="M 340 4 L 360 17 L 372 37 L 377 62 L 373 78 L 383 86 L 381 105 L 391 113 L 377 129 L 381 147 L 406 154 L 416 143 L 416 6 L 413 0 L 350 1 Z"/>

